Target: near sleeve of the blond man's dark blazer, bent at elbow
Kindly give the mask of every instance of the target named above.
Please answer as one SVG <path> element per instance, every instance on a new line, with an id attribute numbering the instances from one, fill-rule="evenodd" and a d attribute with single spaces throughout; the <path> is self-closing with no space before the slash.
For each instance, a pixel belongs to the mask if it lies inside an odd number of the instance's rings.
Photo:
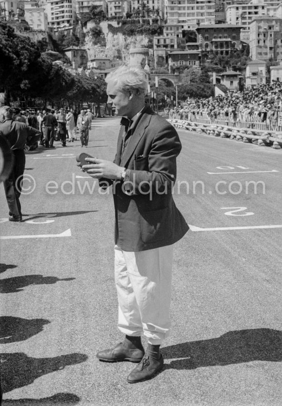
<path id="1" fill-rule="evenodd" d="M 128 195 L 170 193 L 176 180 L 176 157 L 181 143 L 175 129 L 168 124 L 155 130 L 148 154 L 149 171 L 127 169 L 124 190 Z"/>

